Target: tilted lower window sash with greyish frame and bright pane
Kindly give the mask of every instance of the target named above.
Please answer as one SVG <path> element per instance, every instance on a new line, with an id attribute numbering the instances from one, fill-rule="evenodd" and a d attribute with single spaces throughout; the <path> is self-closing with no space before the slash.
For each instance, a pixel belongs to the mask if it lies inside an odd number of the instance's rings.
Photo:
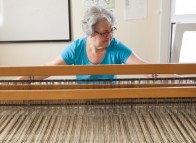
<path id="1" fill-rule="evenodd" d="M 171 49 L 172 63 L 196 63 L 196 23 L 175 25 Z"/>

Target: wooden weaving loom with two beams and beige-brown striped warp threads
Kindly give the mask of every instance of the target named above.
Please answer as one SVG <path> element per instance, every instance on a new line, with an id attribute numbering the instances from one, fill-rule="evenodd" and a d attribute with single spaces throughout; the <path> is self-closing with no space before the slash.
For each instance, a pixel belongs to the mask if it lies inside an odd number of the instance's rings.
<path id="1" fill-rule="evenodd" d="M 196 64 L 0 67 L 1 142 L 196 142 L 196 78 L 34 80 L 34 76 L 196 74 Z"/>

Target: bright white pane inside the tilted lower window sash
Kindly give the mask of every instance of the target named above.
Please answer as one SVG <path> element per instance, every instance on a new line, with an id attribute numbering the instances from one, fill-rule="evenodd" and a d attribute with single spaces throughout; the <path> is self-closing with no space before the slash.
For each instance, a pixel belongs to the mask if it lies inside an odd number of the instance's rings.
<path id="1" fill-rule="evenodd" d="M 196 63 L 196 31 L 184 32 L 179 62 Z"/>

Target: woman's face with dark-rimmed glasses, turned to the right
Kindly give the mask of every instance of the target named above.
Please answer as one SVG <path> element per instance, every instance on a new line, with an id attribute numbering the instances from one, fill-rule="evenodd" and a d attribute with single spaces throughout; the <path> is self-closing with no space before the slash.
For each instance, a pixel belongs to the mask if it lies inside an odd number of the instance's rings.
<path id="1" fill-rule="evenodd" d="M 108 47 L 113 38 L 113 27 L 107 21 L 100 22 L 94 31 L 93 39 L 97 47 Z"/>

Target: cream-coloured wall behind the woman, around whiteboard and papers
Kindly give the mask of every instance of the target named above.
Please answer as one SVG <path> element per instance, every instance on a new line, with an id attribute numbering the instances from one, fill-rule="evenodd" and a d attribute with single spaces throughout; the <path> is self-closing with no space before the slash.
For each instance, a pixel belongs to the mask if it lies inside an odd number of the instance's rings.
<path id="1" fill-rule="evenodd" d="M 85 36 L 80 20 L 85 9 L 82 0 L 71 1 L 72 39 Z M 117 16 L 115 37 L 130 46 L 140 57 L 153 63 L 160 59 L 160 0 L 148 0 L 148 16 L 142 20 L 124 20 L 123 0 L 115 1 Z M 69 43 L 0 43 L 0 66 L 43 65 L 58 56 Z"/>

